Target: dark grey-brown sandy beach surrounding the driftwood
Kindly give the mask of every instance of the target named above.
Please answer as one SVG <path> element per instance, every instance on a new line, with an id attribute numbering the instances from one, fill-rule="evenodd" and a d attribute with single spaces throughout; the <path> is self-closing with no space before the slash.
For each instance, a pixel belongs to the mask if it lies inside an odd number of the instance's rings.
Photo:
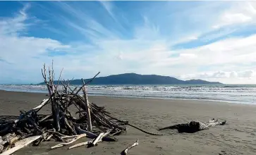
<path id="1" fill-rule="evenodd" d="M 45 94 L 39 93 L 0 91 L 0 115 L 18 115 L 19 110 L 31 109 L 45 98 Z M 97 147 L 79 147 L 71 150 L 66 146 L 51 151 L 48 150 L 49 147 L 57 143 L 42 142 L 39 147 L 30 145 L 15 154 L 120 154 L 137 138 L 139 145 L 129 151 L 130 155 L 256 154 L 256 106 L 253 105 L 114 97 L 89 99 L 95 104 L 106 106 L 113 116 L 128 120 L 150 132 L 163 133 L 164 136 L 147 135 L 128 127 L 127 135 L 117 136 L 118 142 L 102 142 Z M 44 109 L 43 112 L 49 113 L 49 110 Z M 190 120 L 206 122 L 210 118 L 226 119 L 227 124 L 192 134 L 181 134 L 176 130 L 157 130 Z M 82 138 L 78 142 L 85 140 L 86 138 Z"/>

